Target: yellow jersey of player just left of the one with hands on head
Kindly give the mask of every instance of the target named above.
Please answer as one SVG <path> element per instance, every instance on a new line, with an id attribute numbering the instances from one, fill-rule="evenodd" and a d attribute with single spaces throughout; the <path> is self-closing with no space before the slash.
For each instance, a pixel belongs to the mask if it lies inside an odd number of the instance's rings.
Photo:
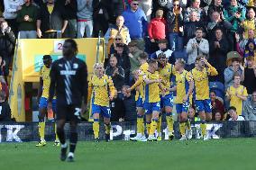
<path id="1" fill-rule="evenodd" d="M 177 91 L 177 96 L 175 99 L 175 103 L 183 103 L 183 98 L 185 97 L 185 95 L 188 92 L 189 89 L 189 84 L 188 82 L 193 81 L 193 77 L 190 74 L 190 72 L 188 72 L 187 70 L 183 70 L 182 73 L 175 73 L 176 76 L 176 91 Z"/>

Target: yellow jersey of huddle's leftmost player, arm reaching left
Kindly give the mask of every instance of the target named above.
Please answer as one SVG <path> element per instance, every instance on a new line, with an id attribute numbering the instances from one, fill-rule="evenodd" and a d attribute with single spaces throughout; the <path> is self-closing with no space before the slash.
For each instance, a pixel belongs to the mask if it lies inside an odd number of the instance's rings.
<path id="1" fill-rule="evenodd" d="M 137 101 L 140 97 L 143 98 L 143 85 L 142 85 L 142 76 L 145 74 L 145 72 L 148 70 L 149 64 L 146 62 L 142 64 L 142 66 L 139 68 L 139 79 L 135 82 L 135 84 L 131 87 L 131 89 L 135 89 L 137 86 L 139 86 L 139 90 L 136 90 L 135 94 L 135 101 Z"/>

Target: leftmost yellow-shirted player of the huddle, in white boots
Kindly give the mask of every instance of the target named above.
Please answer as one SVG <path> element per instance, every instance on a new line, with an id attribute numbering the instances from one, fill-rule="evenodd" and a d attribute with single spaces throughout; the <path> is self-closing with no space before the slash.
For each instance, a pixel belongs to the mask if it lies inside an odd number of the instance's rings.
<path id="1" fill-rule="evenodd" d="M 136 101 L 136 109 L 137 109 L 137 135 L 134 138 L 131 138 L 133 141 L 147 141 L 144 131 L 144 108 L 143 108 L 143 85 L 142 79 L 143 74 L 148 70 L 149 65 L 147 63 L 148 55 L 143 52 L 139 61 L 141 67 L 134 72 L 135 84 L 127 89 L 128 92 L 131 92 L 133 89 L 136 89 L 135 101 Z"/>

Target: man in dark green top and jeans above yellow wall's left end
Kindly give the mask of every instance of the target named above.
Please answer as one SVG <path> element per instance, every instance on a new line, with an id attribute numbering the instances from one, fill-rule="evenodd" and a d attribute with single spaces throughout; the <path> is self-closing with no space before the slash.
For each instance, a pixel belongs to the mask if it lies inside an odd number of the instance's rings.
<path id="1" fill-rule="evenodd" d="M 36 19 L 38 7 L 32 4 L 32 0 L 25 0 L 22 9 L 17 13 L 19 33 L 21 39 L 36 39 Z"/>

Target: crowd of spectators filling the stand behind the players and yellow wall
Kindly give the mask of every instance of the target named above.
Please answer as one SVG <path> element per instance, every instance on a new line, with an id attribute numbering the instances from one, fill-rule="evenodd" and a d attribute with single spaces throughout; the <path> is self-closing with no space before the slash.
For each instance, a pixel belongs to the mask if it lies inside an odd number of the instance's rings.
<path id="1" fill-rule="evenodd" d="M 144 51 L 149 58 L 164 53 L 171 64 L 184 58 L 187 71 L 195 67 L 197 56 L 205 56 L 219 73 L 210 81 L 224 85 L 211 90 L 213 120 L 235 120 L 232 113 L 225 114 L 234 106 L 237 115 L 256 121 L 255 4 L 255 0 L 2 0 L 0 74 L 9 74 L 15 37 L 91 38 L 100 32 L 107 47 L 105 74 L 112 76 L 117 91 L 110 105 L 112 121 L 136 120 L 134 94 L 125 89 L 133 85 Z M 195 109 L 190 109 L 189 118 L 197 121 Z"/>

